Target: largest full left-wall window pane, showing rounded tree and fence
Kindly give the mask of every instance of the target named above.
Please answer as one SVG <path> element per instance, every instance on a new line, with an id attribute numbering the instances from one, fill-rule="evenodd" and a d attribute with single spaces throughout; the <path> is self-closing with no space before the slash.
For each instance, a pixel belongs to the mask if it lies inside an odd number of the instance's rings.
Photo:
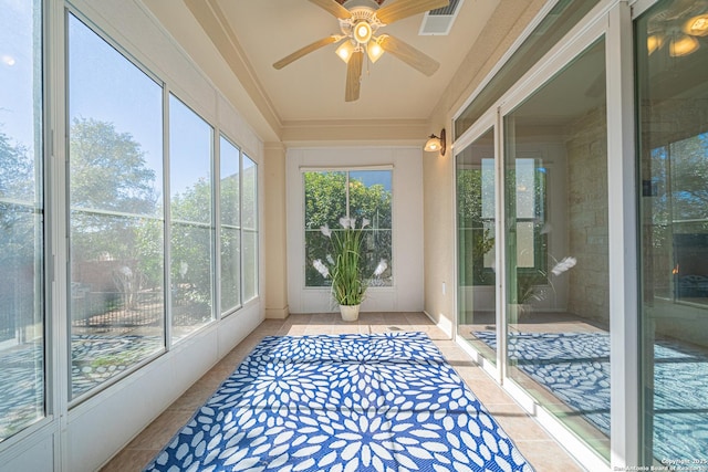
<path id="1" fill-rule="evenodd" d="M 163 90 L 69 15 L 71 397 L 162 350 Z"/>

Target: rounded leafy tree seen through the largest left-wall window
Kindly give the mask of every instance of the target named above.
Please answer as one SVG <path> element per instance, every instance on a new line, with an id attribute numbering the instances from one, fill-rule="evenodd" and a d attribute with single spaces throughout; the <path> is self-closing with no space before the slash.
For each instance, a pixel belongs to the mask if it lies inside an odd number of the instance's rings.
<path id="1" fill-rule="evenodd" d="M 144 217 L 160 218 L 160 211 L 155 170 L 139 144 L 113 124 L 76 118 L 69 160 L 72 259 L 144 260 L 137 251 L 146 244 L 137 241 L 139 228 L 150 225 Z"/>

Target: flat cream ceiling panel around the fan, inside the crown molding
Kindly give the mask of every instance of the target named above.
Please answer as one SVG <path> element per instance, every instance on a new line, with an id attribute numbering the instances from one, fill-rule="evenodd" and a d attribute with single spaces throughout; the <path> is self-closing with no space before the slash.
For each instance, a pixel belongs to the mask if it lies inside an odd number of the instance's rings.
<path id="1" fill-rule="evenodd" d="M 394 0 L 388 0 L 384 4 Z M 400 0 L 396 0 L 400 1 Z M 291 52 L 340 33 L 336 18 L 308 0 L 214 0 L 228 18 L 248 61 L 281 119 L 428 118 L 470 45 L 496 8 L 497 0 L 466 0 L 447 36 L 420 36 L 423 14 L 385 31 L 436 59 L 430 77 L 391 54 L 364 64 L 360 99 L 344 101 L 346 64 L 335 44 L 315 51 L 284 69 L 272 64 Z"/>

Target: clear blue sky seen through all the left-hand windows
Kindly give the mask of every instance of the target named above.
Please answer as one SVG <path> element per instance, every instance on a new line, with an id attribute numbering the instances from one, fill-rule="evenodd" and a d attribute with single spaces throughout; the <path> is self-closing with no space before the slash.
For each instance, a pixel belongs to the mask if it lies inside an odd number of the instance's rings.
<path id="1" fill-rule="evenodd" d="M 0 133 L 12 145 L 33 148 L 34 66 L 32 1 L 2 0 L 0 14 Z M 139 144 L 146 166 L 155 171 L 155 191 L 163 186 L 163 88 L 80 20 L 69 15 L 67 115 L 112 123 Z M 39 40 L 39 38 L 37 38 Z M 38 55 L 39 59 L 39 55 Z M 170 190 L 184 192 L 210 176 L 214 129 L 178 99 L 170 99 Z M 39 119 L 39 113 L 38 113 Z M 247 161 L 247 164 L 249 164 Z M 250 162 L 252 165 L 252 162 Z"/>

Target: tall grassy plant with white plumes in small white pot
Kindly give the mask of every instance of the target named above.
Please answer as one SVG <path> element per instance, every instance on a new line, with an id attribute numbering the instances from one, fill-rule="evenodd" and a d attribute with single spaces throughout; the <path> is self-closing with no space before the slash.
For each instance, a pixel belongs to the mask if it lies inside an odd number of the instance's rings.
<path id="1" fill-rule="evenodd" d="M 368 280 L 363 274 L 362 243 L 364 228 L 369 224 L 367 219 L 362 220 L 361 228 L 356 228 L 354 218 L 340 218 L 343 231 L 332 231 L 326 224 L 320 228 L 322 234 L 331 241 L 332 253 L 325 261 L 317 259 L 312 265 L 324 276 L 332 280 L 332 296 L 340 305 L 342 319 L 353 322 L 358 318 L 358 311 Z M 386 270 L 385 260 L 381 260 L 374 271 L 374 276 L 381 276 Z"/>

